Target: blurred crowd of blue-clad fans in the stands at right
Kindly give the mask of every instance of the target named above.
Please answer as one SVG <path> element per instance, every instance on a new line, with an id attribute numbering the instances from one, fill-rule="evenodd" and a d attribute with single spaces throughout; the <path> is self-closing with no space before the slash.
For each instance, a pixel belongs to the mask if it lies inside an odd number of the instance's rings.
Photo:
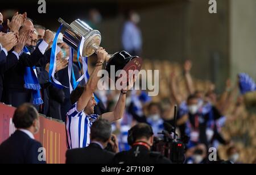
<path id="1" fill-rule="evenodd" d="M 218 159 L 253 163 L 256 118 L 247 111 L 237 82 L 227 80 L 225 90 L 217 94 L 210 81 L 192 78 L 189 60 L 184 65 L 144 60 L 143 66 L 146 70 L 160 70 L 159 95 L 148 97 L 145 91 L 131 91 L 126 116 L 114 126 L 121 150 L 129 148 L 125 144 L 127 130 L 137 122 L 150 124 L 155 136 L 164 129 L 164 122 L 174 126 L 174 106 L 178 105 L 179 137 L 190 138 L 187 163 L 203 163 L 210 147 L 217 148 Z M 151 77 L 147 81 L 152 81 Z"/>

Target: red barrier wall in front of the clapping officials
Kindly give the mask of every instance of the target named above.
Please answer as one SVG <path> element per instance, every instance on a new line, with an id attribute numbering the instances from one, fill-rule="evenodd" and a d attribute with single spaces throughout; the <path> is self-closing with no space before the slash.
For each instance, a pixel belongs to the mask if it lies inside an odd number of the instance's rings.
<path id="1" fill-rule="evenodd" d="M 13 114 L 15 108 L 0 103 L 0 144 L 15 132 Z M 40 130 L 35 139 L 42 143 L 46 149 L 46 162 L 48 164 L 65 163 L 67 151 L 65 125 L 63 122 L 40 116 Z"/>

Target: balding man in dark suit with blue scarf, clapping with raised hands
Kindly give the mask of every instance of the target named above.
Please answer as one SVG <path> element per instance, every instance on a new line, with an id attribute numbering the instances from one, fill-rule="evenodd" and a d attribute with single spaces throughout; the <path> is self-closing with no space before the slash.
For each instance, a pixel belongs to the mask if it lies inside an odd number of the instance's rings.
<path id="1" fill-rule="evenodd" d="M 33 32 L 34 25 L 32 21 L 26 19 L 19 30 L 19 35 L 24 35 L 26 39 L 19 40 L 18 44 L 15 45 L 13 53 L 16 55 L 16 63 L 5 73 L 5 103 L 15 107 L 30 102 L 31 98 L 34 105 L 42 104 L 39 91 L 40 85 L 33 66 L 38 64 L 40 59 L 47 60 L 49 58 L 51 50 L 47 51 L 46 56 L 44 56 L 44 53 L 49 43 L 53 40 L 53 34 L 47 30 L 44 41 L 30 54 L 25 45 L 30 45 Z"/>

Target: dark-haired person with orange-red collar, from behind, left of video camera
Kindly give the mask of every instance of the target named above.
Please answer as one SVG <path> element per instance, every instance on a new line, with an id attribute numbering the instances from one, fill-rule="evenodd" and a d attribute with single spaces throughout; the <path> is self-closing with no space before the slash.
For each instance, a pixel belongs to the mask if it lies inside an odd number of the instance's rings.
<path id="1" fill-rule="evenodd" d="M 129 130 L 129 151 L 120 152 L 114 157 L 115 164 L 171 164 L 171 161 L 158 152 L 151 152 L 154 142 L 152 128 L 139 123 Z"/>

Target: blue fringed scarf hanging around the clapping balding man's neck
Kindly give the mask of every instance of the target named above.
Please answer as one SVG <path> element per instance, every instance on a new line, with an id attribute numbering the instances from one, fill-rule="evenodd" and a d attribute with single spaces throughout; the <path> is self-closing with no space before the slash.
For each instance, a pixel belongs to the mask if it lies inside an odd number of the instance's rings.
<path id="1" fill-rule="evenodd" d="M 26 47 L 24 47 L 23 51 L 30 55 L 30 52 Z M 24 88 L 32 90 L 33 96 L 33 104 L 34 105 L 42 105 L 43 99 L 40 95 L 41 86 L 38 81 L 38 76 L 36 74 L 36 67 L 26 67 L 24 73 Z"/>

